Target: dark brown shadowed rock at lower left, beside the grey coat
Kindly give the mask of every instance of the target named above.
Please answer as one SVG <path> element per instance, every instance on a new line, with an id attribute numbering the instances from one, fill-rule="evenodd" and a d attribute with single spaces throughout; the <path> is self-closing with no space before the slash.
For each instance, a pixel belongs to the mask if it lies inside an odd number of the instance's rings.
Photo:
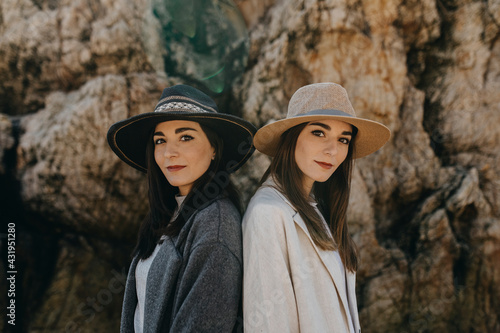
<path id="1" fill-rule="evenodd" d="M 29 331 L 118 331 L 126 256 L 113 253 L 116 246 L 83 237 L 62 239 L 59 246 L 54 276 L 40 308 L 30 315 Z"/>

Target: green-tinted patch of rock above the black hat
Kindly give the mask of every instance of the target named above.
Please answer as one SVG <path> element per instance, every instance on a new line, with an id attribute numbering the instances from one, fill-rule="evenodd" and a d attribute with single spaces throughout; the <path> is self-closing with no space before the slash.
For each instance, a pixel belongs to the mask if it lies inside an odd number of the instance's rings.
<path id="1" fill-rule="evenodd" d="M 230 89 L 248 58 L 248 32 L 238 7 L 205 0 L 152 0 L 152 6 L 166 72 L 215 93 Z"/>

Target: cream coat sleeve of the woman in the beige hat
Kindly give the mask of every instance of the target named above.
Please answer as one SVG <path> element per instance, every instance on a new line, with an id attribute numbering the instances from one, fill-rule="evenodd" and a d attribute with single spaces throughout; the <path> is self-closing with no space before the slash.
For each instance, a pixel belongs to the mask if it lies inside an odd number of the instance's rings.
<path id="1" fill-rule="evenodd" d="M 285 232 L 292 217 L 263 201 L 250 205 L 243 218 L 245 332 L 298 332 Z"/>

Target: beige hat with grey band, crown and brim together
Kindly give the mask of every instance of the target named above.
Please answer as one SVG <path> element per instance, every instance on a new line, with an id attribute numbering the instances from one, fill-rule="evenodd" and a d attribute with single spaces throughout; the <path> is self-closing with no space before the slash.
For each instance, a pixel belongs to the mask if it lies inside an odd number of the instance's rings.
<path id="1" fill-rule="evenodd" d="M 254 137 L 254 146 L 261 153 L 274 156 L 281 134 L 286 130 L 321 119 L 340 120 L 357 128 L 353 158 L 377 151 L 391 137 L 391 131 L 381 123 L 356 117 L 347 91 L 341 85 L 324 82 L 297 90 L 288 104 L 286 118 L 259 129 Z"/>

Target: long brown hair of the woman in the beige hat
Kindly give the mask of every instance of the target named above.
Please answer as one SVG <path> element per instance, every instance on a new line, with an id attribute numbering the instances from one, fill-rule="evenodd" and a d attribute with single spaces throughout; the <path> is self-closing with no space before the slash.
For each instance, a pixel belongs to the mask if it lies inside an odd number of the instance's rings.
<path id="1" fill-rule="evenodd" d="M 271 175 L 276 180 L 277 189 L 288 198 L 306 223 L 314 243 L 323 250 L 338 250 L 344 266 L 354 272 L 358 267 L 358 254 L 356 244 L 349 235 L 346 215 L 357 129 L 353 126 L 353 136 L 344 162 L 327 181 L 315 182 L 312 188 L 318 208 L 333 236 L 332 240 L 324 228 L 321 217 L 304 193 L 302 187 L 304 174 L 295 160 L 297 138 L 306 125 L 307 123 L 299 124 L 281 135 L 278 151 L 260 183 L 262 184 Z"/>

